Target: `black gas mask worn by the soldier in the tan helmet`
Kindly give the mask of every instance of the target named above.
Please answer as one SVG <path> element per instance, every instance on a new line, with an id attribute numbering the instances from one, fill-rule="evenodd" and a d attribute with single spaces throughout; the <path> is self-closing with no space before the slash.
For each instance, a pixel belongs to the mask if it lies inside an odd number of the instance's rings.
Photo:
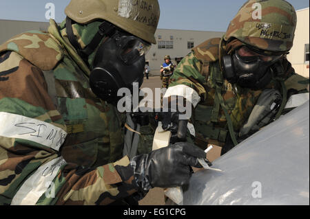
<path id="1" fill-rule="evenodd" d="M 90 73 L 92 91 L 108 103 L 115 104 L 121 97 L 118 89 L 132 91 L 133 83 L 143 83 L 145 54 L 151 45 L 127 32 L 116 30 L 96 52 Z"/>

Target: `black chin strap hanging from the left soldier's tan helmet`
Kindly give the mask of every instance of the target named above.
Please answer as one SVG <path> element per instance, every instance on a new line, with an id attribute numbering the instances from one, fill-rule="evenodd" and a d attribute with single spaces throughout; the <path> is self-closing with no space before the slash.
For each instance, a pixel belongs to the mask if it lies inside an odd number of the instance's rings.
<path id="1" fill-rule="evenodd" d="M 83 59 L 85 64 L 88 67 L 90 67 L 88 63 L 88 56 L 90 56 L 90 54 L 94 52 L 96 47 L 98 47 L 98 45 L 101 43 L 102 39 L 105 36 L 112 36 L 112 34 L 114 34 L 114 32 L 116 31 L 116 27 L 110 22 L 103 21 L 103 23 L 101 23 L 101 25 L 99 26 L 98 32 L 96 33 L 94 38 L 92 38 L 92 41 L 90 42 L 90 44 L 88 44 L 84 49 L 82 49 L 81 45 L 76 40 L 76 36 L 74 36 L 73 29 L 72 29 L 73 23 L 75 22 L 72 21 L 72 19 L 70 19 L 70 17 L 67 16 L 65 27 L 66 27 L 66 32 L 68 35 L 69 42 L 74 47 L 74 49 L 76 49 L 76 52 Z"/>

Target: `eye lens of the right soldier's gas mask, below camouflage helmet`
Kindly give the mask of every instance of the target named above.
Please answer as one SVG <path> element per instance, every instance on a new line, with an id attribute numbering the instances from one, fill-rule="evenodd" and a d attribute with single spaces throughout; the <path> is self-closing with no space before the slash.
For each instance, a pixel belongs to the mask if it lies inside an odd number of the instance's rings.
<path id="1" fill-rule="evenodd" d="M 261 60 L 262 62 L 275 62 L 276 60 L 282 57 L 282 55 L 266 56 L 258 54 L 246 46 L 240 47 L 240 49 L 237 50 L 236 55 L 243 62 L 257 62 L 258 60 Z"/>

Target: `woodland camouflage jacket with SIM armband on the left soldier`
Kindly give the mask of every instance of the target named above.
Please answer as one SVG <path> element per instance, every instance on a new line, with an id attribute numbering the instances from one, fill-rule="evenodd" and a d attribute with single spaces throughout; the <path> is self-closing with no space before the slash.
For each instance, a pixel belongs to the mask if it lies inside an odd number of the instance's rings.
<path id="1" fill-rule="evenodd" d="M 123 117 L 90 91 L 89 69 L 50 24 L 0 46 L 0 204 L 112 203 L 136 192 Z"/>

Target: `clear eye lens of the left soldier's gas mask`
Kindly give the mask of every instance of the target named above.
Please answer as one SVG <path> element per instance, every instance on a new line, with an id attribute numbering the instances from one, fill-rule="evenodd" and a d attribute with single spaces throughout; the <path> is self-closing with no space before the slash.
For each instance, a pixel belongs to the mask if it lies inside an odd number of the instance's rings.
<path id="1" fill-rule="evenodd" d="M 131 65 L 140 56 L 146 55 L 151 45 L 134 36 L 124 37 L 120 49 L 120 58 L 126 65 Z"/>

